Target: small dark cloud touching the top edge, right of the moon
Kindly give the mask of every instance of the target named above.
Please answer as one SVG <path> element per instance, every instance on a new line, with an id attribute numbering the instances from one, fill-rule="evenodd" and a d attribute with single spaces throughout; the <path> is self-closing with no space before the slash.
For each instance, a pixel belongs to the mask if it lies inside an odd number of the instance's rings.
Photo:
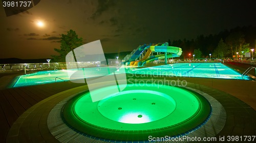
<path id="1" fill-rule="evenodd" d="M 103 12 L 108 11 L 111 7 L 113 7 L 114 1 L 109 0 L 98 0 L 98 6 L 96 11 L 92 14 L 91 18 L 96 19 L 99 17 Z"/>

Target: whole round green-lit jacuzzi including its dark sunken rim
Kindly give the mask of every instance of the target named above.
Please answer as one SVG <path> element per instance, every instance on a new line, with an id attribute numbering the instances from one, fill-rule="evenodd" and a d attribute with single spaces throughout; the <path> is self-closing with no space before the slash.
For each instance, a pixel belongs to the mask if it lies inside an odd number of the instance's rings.
<path id="1" fill-rule="evenodd" d="M 108 94 L 116 88 L 123 90 Z M 104 98 L 93 102 L 92 95 Z M 88 91 L 72 98 L 62 110 L 63 120 L 77 132 L 112 141 L 184 135 L 200 128 L 210 115 L 210 104 L 200 94 L 154 84 Z"/>

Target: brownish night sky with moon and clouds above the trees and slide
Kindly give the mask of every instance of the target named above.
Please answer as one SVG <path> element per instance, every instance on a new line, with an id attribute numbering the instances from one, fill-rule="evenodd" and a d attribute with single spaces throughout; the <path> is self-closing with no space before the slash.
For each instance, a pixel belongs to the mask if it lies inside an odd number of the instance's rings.
<path id="1" fill-rule="evenodd" d="M 83 43 L 101 40 L 105 53 L 132 51 L 144 43 L 196 39 L 256 24 L 255 1 L 42 0 L 6 17 L 0 8 L 0 59 L 57 55 L 61 34 L 76 31 Z M 40 22 L 42 25 L 38 25 Z"/>

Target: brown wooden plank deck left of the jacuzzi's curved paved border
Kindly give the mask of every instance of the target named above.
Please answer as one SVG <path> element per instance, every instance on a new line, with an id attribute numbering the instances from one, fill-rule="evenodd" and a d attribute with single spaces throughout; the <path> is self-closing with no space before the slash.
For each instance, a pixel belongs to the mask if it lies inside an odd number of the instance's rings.
<path id="1" fill-rule="evenodd" d="M 84 83 L 65 81 L 1 90 L 0 142 L 5 142 L 10 127 L 27 109 L 54 94 L 79 87 L 81 85 L 84 85 Z"/>

